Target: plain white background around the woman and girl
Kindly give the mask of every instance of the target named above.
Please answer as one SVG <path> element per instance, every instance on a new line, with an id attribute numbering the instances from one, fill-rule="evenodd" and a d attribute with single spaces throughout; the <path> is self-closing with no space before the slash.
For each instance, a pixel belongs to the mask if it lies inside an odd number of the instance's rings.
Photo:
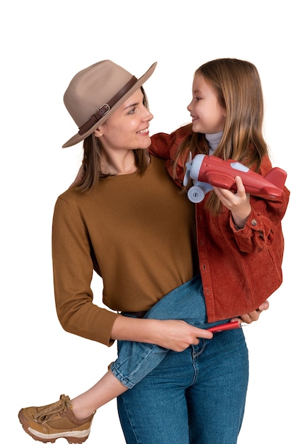
<path id="1" fill-rule="evenodd" d="M 54 307 L 52 211 L 81 161 L 81 145 L 61 148 L 77 131 L 62 101 L 70 79 L 106 58 L 137 77 L 157 61 L 146 83 L 151 133 L 170 132 L 190 121 L 186 106 L 199 65 L 218 57 L 253 62 L 265 94 L 272 163 L 287 170 L 292 191 L 292 10 L 289 0 L 11 0 L 1 6 L 1 443 L 33 443 L 18 410 L 62 393 L 76 396 L 116 355 L 115 347 L 64 332 Z M 293 220 L 291 196 L 283 221 L 284 283 L 269 311 L 245 328 L 250 383 L 239 444 L 295 442 Z M 100 304 L 98 278 L 93 289 Z M 115 401 L 96 414 L 88 442 L 125 442 Z"/>

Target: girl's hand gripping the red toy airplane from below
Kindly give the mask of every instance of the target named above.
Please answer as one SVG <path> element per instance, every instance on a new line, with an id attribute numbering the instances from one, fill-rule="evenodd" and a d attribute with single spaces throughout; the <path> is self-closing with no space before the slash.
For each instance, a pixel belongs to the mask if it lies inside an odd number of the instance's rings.
<path id="1" fill-rule="evenodd" d="M 245 192 L 245 187 L 240 176 L 236 176 L 237 191 L 232 192 L 229 189 L 214 187 L 216 196 L 221 203 L 226 206 L 233 217 L 233 223 L 237 228 L 244 228 L 245 222 L 251 212 L 250 194 Z"/>

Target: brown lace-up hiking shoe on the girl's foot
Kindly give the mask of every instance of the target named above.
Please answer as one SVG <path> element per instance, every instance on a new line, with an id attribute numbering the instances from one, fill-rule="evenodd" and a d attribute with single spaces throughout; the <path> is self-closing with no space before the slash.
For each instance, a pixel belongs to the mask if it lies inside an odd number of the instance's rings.
<path id="1" fill-rule="evenodd" d="M 88 438 L 95 413 L 80 421 L 72 411 L 69 396 L 62 394 L 54 404 L 21 409 L 18 418 L 24 431 L 37 441 L 55 443 L 57 438 L 65 438 L 69 444 L 81 444 Z"/>

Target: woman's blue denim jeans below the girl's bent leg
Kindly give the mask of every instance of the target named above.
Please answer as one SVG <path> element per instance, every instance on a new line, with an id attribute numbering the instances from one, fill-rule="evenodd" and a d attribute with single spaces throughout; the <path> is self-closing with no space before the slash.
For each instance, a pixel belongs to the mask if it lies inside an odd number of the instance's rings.
<path id="1" fill-rule="evenodd" d="M 169 351 L 117 398 L 127 444 L 236 444 L 248 386 L 242 329 Z"/>

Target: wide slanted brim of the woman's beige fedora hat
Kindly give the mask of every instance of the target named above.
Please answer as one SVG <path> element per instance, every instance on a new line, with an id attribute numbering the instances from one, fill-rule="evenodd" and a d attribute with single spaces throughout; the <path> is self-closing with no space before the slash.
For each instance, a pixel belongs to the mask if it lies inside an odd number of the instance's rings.
<path id="1" fill-rule="evenodd" d="M 157 64 L 157 62 L 154 62 L 153 65 L 151 65 L 151 67 L 149 68 L 149 70 L 147 70 L 146 73 L 143 76 L 141 76 L 137 80 L 137 82 L 116 102 L 116 104 L 114 106 L 112 106 L 112 109 L 110 109 L 110 111 L 108 111 L 108 113 L 106 113 L 105 116 L 100 118 L 100 120 L 97 123 L 95 123 L 91 128 L 89 128 L 89 130 L 86 131 L 85 134 L 83 134 L 83 135 L 80 135 L 79 133 L 75 134 L 66 143 L 64 143 L 64 145 L 62 145 L 62 148 L 68 148 L 70 146 L 76 145 L 76 143 L 81 142 L 81 140 L 86 139 L 88 137 L 88 135 L 91 135 L 91 133 L 93 133 L 93 131 L 96 130 L 96 128 L 98 128 L 98 126 L 105 123 L 105 121 L 108 120 L 110 115 L 114 111 L 116 111 L 116 109 L 118 109 L 119 106 L 121 106 L 125 102 L 125 100 L 128 99 L 129 96 L 132 96 L 132 94 L 135 91 L 137 91 L 137 89 L 139 89 L 144 84 L 144 82 L 146 82 L 147 79 L 149 79 L 149 77 L 151 77 L 151 74 L 153 74 L 153 72 L 156 68 L 156 64 Z"/>

